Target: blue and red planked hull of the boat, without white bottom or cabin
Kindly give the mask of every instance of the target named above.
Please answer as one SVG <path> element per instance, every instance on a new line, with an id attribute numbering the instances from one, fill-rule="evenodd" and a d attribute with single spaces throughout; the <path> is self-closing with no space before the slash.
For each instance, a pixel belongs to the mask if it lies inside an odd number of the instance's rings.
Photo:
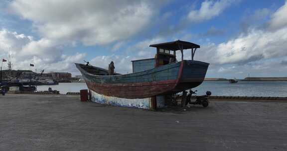
<path id="1" fill-rule="evenodd" d="M 88 88 L 103 96 L 143 99 L 181 92 L 202 83 L 208 63 L 184 60 L 127 75 L 93 75 L 76 64 Z"/>

